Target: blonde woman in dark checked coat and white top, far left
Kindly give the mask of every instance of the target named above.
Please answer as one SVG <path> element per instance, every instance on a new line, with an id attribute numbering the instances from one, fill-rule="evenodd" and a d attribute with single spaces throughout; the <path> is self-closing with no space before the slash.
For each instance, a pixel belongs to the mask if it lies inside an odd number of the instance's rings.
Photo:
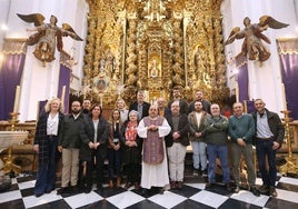
<path id="1" fill-rule="evenodd" d="M 60 99 L 49 100 L 44 110 L 46 113 L 39 117 L 37 123 L 33 146 L 39 163 L 34 186 L 36 197 L 40 197 L 44 192 L 49 193 L 54 189 L 58 135 L 63 120 Z"/>

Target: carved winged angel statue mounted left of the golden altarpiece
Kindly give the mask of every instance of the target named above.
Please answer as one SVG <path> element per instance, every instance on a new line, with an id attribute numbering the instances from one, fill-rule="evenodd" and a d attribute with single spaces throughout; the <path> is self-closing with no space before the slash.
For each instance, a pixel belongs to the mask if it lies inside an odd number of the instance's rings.
<path id="1" fill-rule="evenodd" d="M 68 23 L 62 23 L 62 28 L 59 28 L 57 26 L 58 19 L 54 16 L 51 16 L 50 23 L 44 23 L 44 17 L 41 13 L 17 14 L 23 21 L 34 23 L 34 29 L 27 30 L 37 32 L 28 38 L 27 43 L 29 46 L 36 44 L 33 54 L 37 59 L 42 61 L 43 64 L 54 60 L 56 46 L 58 51 L 62 50 L 62 37 L 70 36 L 74 40 L 82 41 Z"/>

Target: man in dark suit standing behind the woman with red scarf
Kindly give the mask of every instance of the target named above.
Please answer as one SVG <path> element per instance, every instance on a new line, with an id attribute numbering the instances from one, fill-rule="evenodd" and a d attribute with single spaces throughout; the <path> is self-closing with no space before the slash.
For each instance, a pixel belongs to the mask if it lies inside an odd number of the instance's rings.
<path id="1" fill-rule="evenodd" d="M 139 90 L 137 92 L 137 101 L 130 104 L 129 112 L 131 110 L 138 111 L 139 112 L 138 120 L 140 121 L 143 117 L 149 116 L 149 108 L 150 108 L 150 103 L 145 101 L 145 91 Z"/>

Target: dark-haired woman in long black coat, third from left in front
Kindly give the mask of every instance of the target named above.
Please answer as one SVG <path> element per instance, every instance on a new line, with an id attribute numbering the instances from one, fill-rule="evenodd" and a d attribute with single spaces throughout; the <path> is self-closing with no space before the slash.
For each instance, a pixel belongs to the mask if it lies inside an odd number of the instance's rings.
<path id="1" fill-rule="evenodd" d="M 107 143 L 109 138 L 109 123 L 102 116 L 99 104 L 90 109 L 90 117 L 80 131 L 81 148 L 80 162 L 83 167 L 82 176 L 86 177 L 86 192 L 92 189 L 92 171 L 97 170 L 97 188 L 102 189 L 103 162 L 107 158 Z"/>

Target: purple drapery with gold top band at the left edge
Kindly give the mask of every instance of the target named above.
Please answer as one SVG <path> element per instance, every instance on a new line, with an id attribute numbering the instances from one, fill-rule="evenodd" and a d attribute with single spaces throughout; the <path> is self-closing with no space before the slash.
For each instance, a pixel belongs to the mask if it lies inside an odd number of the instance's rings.
<path id="1" fill-rule="evenodd" d="M 0 120 L 11 118 L 9 112 L 13 110 L 16 88 L 21 82 L 26 48 L 24 40 L 4 40 L 3 61 L 0 68 Z"/>

